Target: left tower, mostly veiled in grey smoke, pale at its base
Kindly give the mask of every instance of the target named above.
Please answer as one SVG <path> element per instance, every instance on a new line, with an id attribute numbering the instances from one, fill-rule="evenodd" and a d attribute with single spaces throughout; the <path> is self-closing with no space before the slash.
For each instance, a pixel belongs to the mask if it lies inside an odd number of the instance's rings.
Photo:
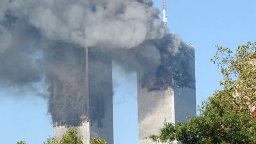
<path id="1" fill-rule="evenodd" d="M 56 50 L 58 51 L 58 49 Z M 54 52 L 57 54 L 58 52 Z M 68 62 L 65 63 L 65 59 Z M 61 72 L 52 76 L 52 122 L 57 140 L 76 127 L 88 144 L 100 137 L 113 143 L 112 60 L 100 49 L 77 48 L 54 56 Z M 59 61 L 62 61 L 60 66 Z M 66 66 L 66 68 L 65 68 Z M 74 67 L 72 67 L 74 66 Z"/>

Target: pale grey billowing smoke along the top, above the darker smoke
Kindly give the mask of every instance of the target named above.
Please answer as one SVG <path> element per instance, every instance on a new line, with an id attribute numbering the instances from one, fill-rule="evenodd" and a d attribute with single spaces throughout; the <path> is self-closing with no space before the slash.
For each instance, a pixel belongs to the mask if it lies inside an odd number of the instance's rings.
<path id="1" fill-rule="evenodd" d="M 129 49 L 166 33 L 152 1 L 13 0 L 3 4 L 4 12 L 28 21 L 42 36 L 83 46 Z"/>

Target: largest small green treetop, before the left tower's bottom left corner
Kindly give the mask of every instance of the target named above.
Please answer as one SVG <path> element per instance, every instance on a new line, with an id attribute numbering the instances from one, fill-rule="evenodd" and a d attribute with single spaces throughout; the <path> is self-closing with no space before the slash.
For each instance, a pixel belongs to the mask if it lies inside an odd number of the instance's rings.
<path id="1" fill-rule="evenodd" d="M 77 136 L 77 129 L 71 127 L 67 133 L 64 134 L 59 144 L 83 144 L 83 138 Z"/>

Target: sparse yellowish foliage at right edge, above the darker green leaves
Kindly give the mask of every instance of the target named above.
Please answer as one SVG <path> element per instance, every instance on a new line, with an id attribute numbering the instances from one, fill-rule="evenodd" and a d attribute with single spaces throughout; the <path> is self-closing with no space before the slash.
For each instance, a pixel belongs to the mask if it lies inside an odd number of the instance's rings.
<path id="1" fill-rule="evenodd" d="M 223 90 L 214 93 L 221 103 L 227 103 L 237 113 L 255 118 L 256 111 L 256 42 L 237 47 L 236 54 L 228 48 L 218 47 L 212 61 L 223 75 Z"/>

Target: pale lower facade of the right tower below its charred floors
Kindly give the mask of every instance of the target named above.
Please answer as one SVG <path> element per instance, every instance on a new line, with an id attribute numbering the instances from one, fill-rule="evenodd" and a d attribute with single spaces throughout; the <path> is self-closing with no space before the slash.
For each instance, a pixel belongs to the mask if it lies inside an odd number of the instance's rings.
<path id="1" fill-rule="evenodd" d="M 139 144 L 152 144 L 146 137 L 159 134 L 164 122 L 188 122 L 195 115 L 195 89 L 169 87 L 148 92 L 138 85 Z"/>

